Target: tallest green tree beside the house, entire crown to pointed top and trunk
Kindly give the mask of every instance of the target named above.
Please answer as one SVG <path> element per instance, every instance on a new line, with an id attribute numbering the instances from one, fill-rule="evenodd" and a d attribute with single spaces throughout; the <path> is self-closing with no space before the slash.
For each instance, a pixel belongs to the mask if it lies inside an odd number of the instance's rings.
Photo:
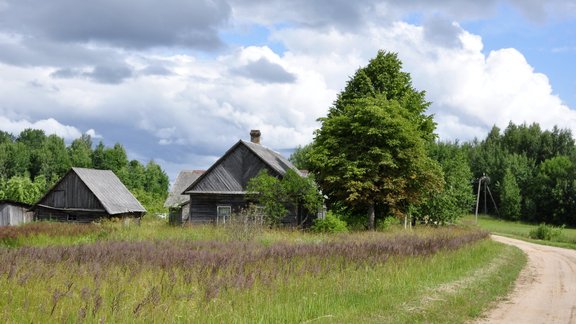
<path id="1" fill-rule="evenodd" d="M 320 118 L 308 155 L 323 193 L 366 208 L 374 228 L 377 205 L 405 216 L 440 191 L 442 172 L 425 149 L 435 138 L 429 105 L 397 55 L 379 51 Z"/>

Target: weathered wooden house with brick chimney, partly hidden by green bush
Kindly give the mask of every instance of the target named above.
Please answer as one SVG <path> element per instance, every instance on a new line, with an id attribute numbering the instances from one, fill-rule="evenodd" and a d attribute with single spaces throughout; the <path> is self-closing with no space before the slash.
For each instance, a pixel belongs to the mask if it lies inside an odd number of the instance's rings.
<path id="1" fill-rule="evenodd" d="M 248 204 L 248 181 L 261 170 L 281 178 L 293 165 L 279 153 L 260 145 L 260 131 L 250 132 L 251 141 L 238 141 L 206 172 L 192 183 L 183 194 L 190 196 L 191 223 L 225 223 L 232 213 Z M 302 208 L 289 207 L 289 214 L 282 220 L 286 225 L 299 225 L 306 218 Z M 300 215 L 297 215 L 299 211 Z"/>

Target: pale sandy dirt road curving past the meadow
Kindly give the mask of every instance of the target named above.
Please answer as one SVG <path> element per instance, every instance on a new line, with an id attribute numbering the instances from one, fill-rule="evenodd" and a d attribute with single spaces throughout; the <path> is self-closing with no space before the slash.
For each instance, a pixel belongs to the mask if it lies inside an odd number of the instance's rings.
<path id="1" fill-rule="evenodd" d="M 528 255 L 509 298 L 478 323 L 576 323 L 576 250 L 495 236 Z"/>

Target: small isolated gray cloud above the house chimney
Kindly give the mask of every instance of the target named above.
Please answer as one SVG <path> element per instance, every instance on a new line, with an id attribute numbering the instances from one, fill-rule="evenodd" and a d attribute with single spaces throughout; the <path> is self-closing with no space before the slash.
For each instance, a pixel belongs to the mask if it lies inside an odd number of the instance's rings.
<path id="1" fill-rule="evenodd" d="M 232 70 L 232 73 L 252 79 L 260 83 L 292 83 L 296 76 L 276 63 L 265 58 Z"/>

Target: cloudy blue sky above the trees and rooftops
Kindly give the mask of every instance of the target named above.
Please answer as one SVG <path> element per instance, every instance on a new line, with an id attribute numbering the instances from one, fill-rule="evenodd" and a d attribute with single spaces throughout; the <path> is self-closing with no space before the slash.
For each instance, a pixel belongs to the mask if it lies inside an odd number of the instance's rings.
<path id="1" fill-rule="evenodd" d="M 173 181 L 251 129 L 289 155 L 378 50 L 441 140 L 576 134 L 576 1 L 0 0 L 0 129 L 87 133 Z"/>

